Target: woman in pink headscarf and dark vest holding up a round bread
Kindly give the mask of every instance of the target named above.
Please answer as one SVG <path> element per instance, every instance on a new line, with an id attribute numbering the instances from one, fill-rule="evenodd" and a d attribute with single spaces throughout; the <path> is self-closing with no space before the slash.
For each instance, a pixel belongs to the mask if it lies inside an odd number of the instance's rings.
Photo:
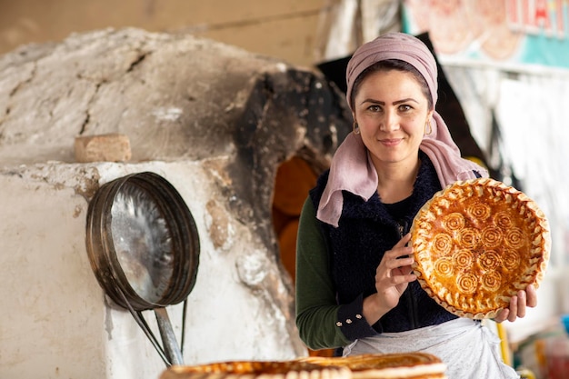
<path id="1" fill-rule="evenodd" d="M 296 324 L 311 349 L 424 351 L 444 360 L 449 378 L 518 377 L 494 334 L 436 304 L 412 272 L 407 243 L 417 211 L 445 185 L 487 176 L 461 158 L 434 110 L 436 75 L 428 48 L 401 33 L 379 36 L 350 60 L 354 131 L 304 203 Z M 514 321 L 536 302 L 530 286 L 495 320 Z"/>

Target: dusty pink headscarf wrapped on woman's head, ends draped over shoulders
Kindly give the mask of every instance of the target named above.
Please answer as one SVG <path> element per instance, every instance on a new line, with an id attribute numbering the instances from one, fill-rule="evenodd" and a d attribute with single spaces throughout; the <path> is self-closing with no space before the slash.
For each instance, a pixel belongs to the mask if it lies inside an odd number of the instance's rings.
<path id="1" fill-rule="evenodd" d="M 346 70 L 346 99 L 351 105 L 355 79 L 369 66 L 386 59 L 399 59 L 413 65 L 426 80 L 433 105 L 436 105 L 437 70 L 434 56 L 421 40 L 404 33 L 380 35 L 374 41 L 360 46 L 350 59 Z M 432 132 L 424 135 L 419 148 L 429 156 L 441 185 L 475 177 L 474 172 L 487 176 L 487 171 L 474 162 L 463 159 L 460 150 L 444 120 L 436 111 L 431 122 Z M 318 204 L 316 217 L 327 224 L 338 226 L 344 197 L 342 191 L 357 194 L 365 201 L 377 191 L 377 172 L 360 135 L 345 137 L 332 159 L 328 183 Z"/>

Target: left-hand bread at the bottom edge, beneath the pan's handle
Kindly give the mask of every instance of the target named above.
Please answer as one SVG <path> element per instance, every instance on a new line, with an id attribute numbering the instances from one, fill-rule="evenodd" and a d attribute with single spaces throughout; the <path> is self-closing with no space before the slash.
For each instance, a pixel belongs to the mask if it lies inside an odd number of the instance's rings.
<path id="1" fill-rule="evenodd" d="M 228 361 L 171 366 L 160 379 L 352 379 L 352 372 L 300 360 Z"/>

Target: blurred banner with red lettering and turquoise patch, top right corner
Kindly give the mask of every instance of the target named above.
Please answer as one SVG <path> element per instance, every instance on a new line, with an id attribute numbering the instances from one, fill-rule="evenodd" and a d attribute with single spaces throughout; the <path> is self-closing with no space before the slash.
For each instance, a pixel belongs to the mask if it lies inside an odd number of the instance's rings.
<path id="1" fill-rule="evenodd" d="M 428 31 L 443 63 L 569 69 L 567 0 L 405 0 L 403 30 Z"/>

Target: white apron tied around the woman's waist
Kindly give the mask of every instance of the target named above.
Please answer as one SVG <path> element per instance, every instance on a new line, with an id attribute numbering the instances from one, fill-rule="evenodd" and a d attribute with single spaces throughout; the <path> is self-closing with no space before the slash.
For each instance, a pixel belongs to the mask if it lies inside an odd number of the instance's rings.
<path id="1" fill-rule="evenodd" d="M 500 356 L 500 339 L 479 322 L 457 318 L 444 324 L 355 340 L 344 356 L 424 352 L 446 364 L 448 379 L 516 379 L 520 376 Z"/>

